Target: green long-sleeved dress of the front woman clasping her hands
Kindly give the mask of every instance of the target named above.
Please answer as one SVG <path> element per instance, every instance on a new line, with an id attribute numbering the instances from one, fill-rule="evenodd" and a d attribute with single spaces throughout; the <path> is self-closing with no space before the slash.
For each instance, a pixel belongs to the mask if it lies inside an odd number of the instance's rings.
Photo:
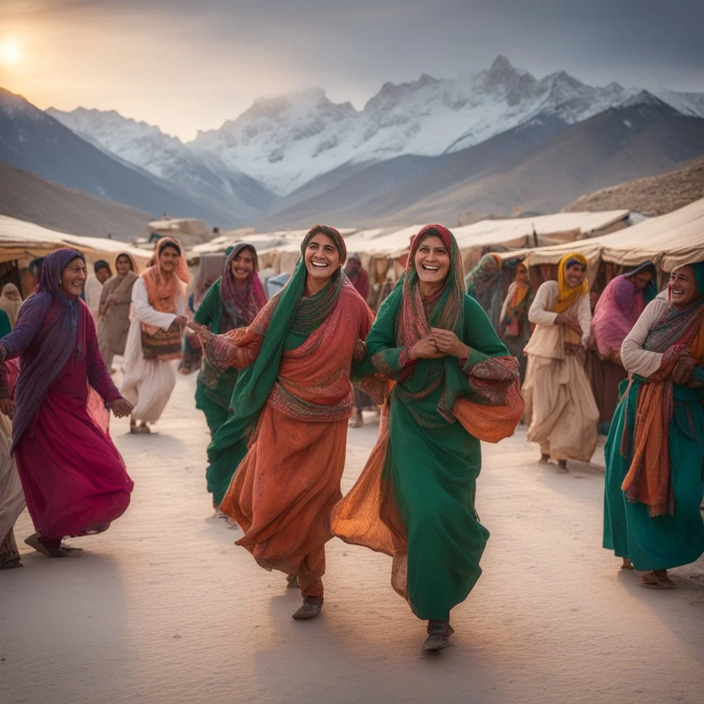
<path id="1" fill-rule="evenodd" d="M 458 422 L 449 422 L 438 406 L 443 394 L 470 394 L 466 370 L 475 363 L 508 352 L 496 336 L 482 307 L 463 298 L 458 337 L 472 353 L 465 370 L 455 357 L 417 360 L 408 377 L 400 372 L 403 347 L 396 344 L 396 318 L 401 287 L 379 308 L 367 337 L 365 366 L 401 379 L 389 398 L 389 453 L 384 479 L 394 496 L 408 531 L 408 595 L 415 614 L 428 620 L 449 620 L 450 610 L 467 598 L 482 573 L 482 557 L 489 531 L 474 511 L 476 480 L 482 467 L 479 440 Z M 436 303 L 431 322 L 439 315 Z M 375 356 L 382 353 L 380 356 Z M 425 396 L 429 379 L 439 370 L 441 384 Z"/>

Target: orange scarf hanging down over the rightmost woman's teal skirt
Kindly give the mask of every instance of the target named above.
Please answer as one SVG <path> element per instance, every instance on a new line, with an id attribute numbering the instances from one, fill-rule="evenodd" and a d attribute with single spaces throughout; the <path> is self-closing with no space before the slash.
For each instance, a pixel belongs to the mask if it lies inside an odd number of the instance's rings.
<path id="1" fill-rule="evenodd" d="M 704 365 L 704 325 L 691 340 L 691 356 Z M 657 378 L 643 384 L 636 405 L 633 460 L 621 489 L 629 501 L 648 506 L 651 516 L 672 515 L 670 448 L 668 430 L 672 420 L 672 371 L 687 348 L 677 346 L 665 353 Z"/>

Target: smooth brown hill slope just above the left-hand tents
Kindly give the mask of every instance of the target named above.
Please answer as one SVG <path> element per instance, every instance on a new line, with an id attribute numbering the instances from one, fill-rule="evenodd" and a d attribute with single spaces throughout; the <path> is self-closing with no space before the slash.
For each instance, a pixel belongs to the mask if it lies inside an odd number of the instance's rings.
<path id="1" fill-rule="evenodd" d="M 0 161 L 0 215 L 71 234 L 132 241 L 152 216 L 98 196 L 68 189 Z"/>

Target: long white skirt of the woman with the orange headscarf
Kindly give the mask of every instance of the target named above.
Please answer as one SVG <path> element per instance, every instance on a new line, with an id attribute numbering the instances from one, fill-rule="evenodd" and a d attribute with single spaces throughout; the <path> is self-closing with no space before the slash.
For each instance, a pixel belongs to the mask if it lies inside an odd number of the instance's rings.
<path id="1" fill-rule="evenodd" d="M 125 346 L 125 378 L 120 394 L 132 403 L 132 417 L 156 423 L 176 386 L 175 360 L 146 360 L 139 320 L 132 320 Z"/>

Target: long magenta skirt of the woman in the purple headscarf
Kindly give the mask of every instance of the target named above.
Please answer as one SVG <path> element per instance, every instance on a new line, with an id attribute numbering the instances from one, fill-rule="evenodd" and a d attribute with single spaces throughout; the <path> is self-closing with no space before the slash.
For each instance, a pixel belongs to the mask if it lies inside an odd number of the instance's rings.
<path id="1" fill-rule="evenodd" d="M 49 387 L 15 458 L 34 528 L 46 538 L 100 532 L 130 504 L 118 449 L 72 389 Z"/>

